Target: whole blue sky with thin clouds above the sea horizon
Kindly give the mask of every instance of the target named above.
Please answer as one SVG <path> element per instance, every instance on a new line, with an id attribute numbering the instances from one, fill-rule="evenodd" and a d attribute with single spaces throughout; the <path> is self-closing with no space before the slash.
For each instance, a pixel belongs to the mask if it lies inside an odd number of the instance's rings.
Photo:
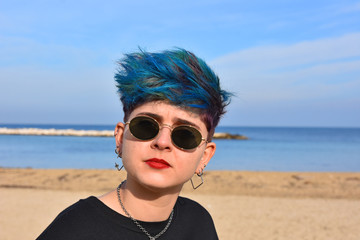
<path id="1" fill-rule="evenodd" d="M 116 60 L 175 46 L 236 94 L 221 125 L 360 127 L 360 2 L 346 0 L 0 0 L 0 123 L 120 121 Z"/>

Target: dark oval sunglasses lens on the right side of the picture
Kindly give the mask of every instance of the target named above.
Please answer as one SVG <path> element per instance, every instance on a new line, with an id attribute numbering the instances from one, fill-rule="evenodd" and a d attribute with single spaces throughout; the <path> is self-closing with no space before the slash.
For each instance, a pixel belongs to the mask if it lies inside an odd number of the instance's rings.
<path id="1" fill-rule="evenodd" d="M 188 126 L 176 127 L 171 134 L 173 143 L 182 149 L 193 149 L 201 143 L 201 133 Z"/>

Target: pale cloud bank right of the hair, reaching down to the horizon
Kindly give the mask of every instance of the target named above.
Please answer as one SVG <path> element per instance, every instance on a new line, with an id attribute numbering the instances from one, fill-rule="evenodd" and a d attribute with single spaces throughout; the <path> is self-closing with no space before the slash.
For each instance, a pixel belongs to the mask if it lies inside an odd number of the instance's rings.
<path id="1" fill-rule="evenodd" d="M 223 87 L 237 95 L 223 123 L 358 126 L 359 43 L 353 33 L 215 59 Z"/>

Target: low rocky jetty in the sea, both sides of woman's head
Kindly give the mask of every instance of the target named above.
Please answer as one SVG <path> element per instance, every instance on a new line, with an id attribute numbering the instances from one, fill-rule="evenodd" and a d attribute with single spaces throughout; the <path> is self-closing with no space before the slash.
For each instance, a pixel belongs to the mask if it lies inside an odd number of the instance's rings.
<path id="1" fill-rule="evenodd" d="M 75 130 L 75 129 L 40 129 L 40 128 L 0 128 L 0 135 L 34 136 L 77 136 L 77 137 L 113 137 L 114 131 Z M 248 139 L 246 136 L 230 133 L 215 133 L 214 139 Z"/>

